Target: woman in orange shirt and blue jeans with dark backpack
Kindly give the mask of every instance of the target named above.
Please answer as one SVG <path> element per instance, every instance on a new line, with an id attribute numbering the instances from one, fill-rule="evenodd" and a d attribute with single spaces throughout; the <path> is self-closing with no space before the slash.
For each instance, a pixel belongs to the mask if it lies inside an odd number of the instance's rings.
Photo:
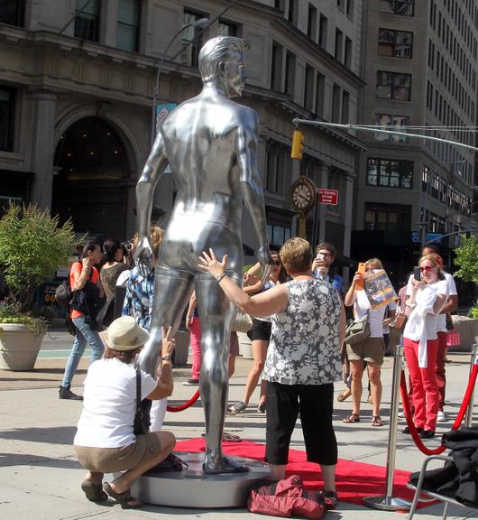
<path id="1" fill-rule="evenodd" d="M 78 262 L 74 262 L 69 269 L 69 286 L 74 293 L 69 317 L 75 325 L 77 334 L 59 388 L 60 399 L 79 401 L 83 399 L 81 395 L 71 392 L 70 387 L 87 344 L 91 348 L 91 362 L 103 356 L 105 348 L 99 337 L 96 322 L 100 297 L 103 295 L 99 274 L 95 267 L 100 262 L 101 247 L 97 242 L 88 240 L 81 249 Z"/>

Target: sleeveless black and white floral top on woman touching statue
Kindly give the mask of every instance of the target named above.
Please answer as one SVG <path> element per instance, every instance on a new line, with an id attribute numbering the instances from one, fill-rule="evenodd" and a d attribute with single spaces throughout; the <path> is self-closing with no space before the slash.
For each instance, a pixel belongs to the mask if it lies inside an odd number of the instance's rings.
<path id="1" fill-rule="evenodd" d="M 339 381 L 340 302 L 323 280 L 285 283 L 289 302 L 272 316 L 264 378 L 282 385 L 326 385 Z"/>

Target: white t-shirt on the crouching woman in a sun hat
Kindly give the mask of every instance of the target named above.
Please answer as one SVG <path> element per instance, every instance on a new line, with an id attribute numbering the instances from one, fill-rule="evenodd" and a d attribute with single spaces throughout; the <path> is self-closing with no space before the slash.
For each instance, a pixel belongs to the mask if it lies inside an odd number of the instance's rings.
<path id="1" fill-rule="evenodd" d="M 83 410 L 73 441 L 90 448 L 121 448 L 133 444 L 136 411 L 136 370 L 119 359 L 98 359 L 85 379 Z M 141 372 L 142 399 L 156 388 L 156 381 Z"/>

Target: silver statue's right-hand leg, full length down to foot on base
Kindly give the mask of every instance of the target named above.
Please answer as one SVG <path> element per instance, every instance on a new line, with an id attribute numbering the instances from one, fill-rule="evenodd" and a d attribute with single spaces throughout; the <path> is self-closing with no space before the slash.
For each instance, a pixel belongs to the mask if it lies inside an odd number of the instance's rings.
<path id="1" fill-rule="evenodd" d="M 239 284 L 238 277 L 235 280 Z M 231 339 L 234 304 L 209 274 L 196 282 L 201 321 L 201 400 L 206 420 L 205 473 L 235 473 L 248 468 L 223 455 L 222 436 L 227 404 L 227 357 Z"/>

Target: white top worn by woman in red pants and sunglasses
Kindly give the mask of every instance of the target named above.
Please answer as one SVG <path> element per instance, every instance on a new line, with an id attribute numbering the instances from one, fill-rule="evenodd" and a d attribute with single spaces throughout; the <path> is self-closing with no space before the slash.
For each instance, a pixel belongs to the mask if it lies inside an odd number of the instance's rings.
<path id="1" fill-rule="evenodd" d="M 415 296 L 416 307 L 411 311 L 403 330 L 404 338 L 418 341 L 425 330 L 424 340 L 437 339 L 437 319 L 440 314 L 433 314 L 433 305 L 438 294 L 448 297 L 446 280 L 438 280 L 436 283 L 429 283 L 424 289 L 418 289 Z"/>

